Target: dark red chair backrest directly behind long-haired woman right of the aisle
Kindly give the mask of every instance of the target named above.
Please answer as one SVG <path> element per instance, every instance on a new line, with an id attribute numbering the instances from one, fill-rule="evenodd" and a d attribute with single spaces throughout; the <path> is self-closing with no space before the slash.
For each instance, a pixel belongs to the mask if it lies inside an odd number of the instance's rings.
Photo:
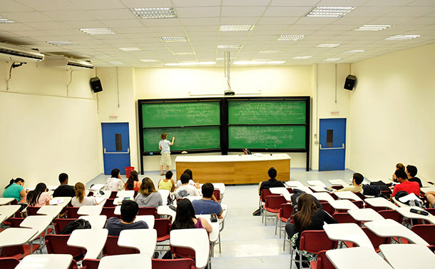
<path id="1" fill-rule="evenodd" d="M 322 250 L 334 248 L 337 242 L 328 238 L 324 230 L 304 230 L 300 234 L 300 250 L 309 253 L 319 253 Z"/>

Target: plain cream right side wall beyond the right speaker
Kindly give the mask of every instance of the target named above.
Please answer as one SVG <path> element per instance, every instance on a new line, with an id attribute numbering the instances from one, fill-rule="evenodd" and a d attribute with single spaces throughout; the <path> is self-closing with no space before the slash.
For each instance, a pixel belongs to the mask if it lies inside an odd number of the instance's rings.
<path id="1" fill-rule="evenodd" d="M 435 44 L 352 64 L 349 168 L 389 178 L 396 163 L 435 176 Z"/>

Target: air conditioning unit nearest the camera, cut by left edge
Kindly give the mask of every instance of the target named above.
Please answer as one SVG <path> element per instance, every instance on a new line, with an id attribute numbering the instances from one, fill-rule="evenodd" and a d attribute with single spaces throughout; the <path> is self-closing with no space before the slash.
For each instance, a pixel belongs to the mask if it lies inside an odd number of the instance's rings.
<path id="1" fill-rule="evenodd" d="M 25 48 L 24 46 L 0 43 L 0 59 L 28 63 L 30 61 L 44 60 L 44 54 L 41 54 L 41 52 L 35 49 Z"/>

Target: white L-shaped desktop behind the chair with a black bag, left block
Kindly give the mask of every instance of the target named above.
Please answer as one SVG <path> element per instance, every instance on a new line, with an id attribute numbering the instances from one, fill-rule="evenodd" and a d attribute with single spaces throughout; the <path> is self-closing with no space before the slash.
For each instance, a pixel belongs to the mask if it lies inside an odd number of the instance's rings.
<path id="1" fill-rule="evenodd" d="M 78 229 L 73 230 L 67 245 L 77 248 L 85 248 L 86 255 L 83 259 L 97 259 L 106 244 L 107 229 Z"/>

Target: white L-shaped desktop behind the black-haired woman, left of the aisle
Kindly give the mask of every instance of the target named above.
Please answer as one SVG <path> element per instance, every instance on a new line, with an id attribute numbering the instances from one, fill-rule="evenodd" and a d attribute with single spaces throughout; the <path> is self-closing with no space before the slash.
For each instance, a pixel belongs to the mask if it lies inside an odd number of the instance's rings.
<path id="1" fill-rule="evenodd" d="M 205 229 L 171 230 L 170 245 L 193 249 L 196 268 L 205 268 L 208 265 L 210 243 Z"/>

